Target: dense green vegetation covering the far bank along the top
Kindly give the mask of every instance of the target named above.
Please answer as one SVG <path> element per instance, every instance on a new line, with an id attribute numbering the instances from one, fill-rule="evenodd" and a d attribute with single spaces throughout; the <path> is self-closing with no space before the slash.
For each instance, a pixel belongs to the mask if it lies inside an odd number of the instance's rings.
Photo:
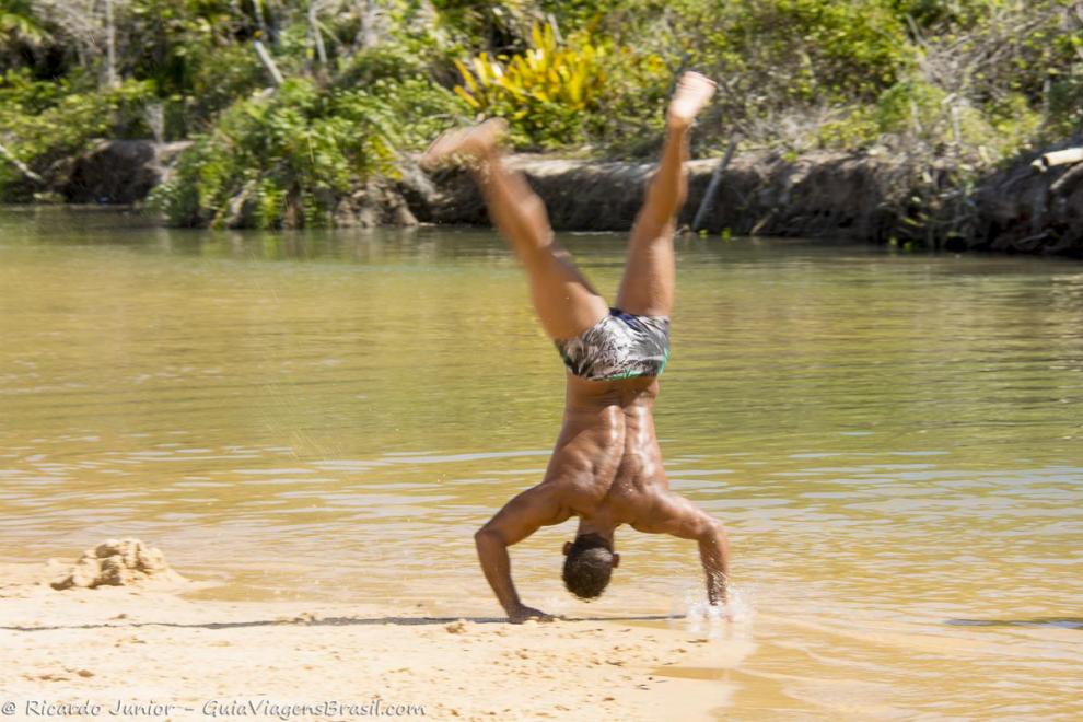
<path id="1" fill-rule="evenodd" d="M 0 0 L 0 199 L 156 136 L 194 141 L 152 197 L 174 223 L 322 224 L 480 115 L 522 149 L 650 153 L 685 67 L 722 88 L 698 153 L 738 133 L 965 175 L 1083 128 L 1071 0 Z"/>

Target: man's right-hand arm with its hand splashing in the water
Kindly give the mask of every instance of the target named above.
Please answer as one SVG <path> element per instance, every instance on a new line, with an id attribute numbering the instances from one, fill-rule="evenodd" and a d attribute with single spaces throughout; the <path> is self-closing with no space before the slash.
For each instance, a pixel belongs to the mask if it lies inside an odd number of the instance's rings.
<path id="1" fill-rule="evenodd" d="M 699 544 L 699 559 L 707 574 L 707 598 L 724 604 L 730 581 L 730 542 L 721 522 L 673 492 L 663 492 L 650 517 L 632 525 L 640 532 L 671 534 Z"/>

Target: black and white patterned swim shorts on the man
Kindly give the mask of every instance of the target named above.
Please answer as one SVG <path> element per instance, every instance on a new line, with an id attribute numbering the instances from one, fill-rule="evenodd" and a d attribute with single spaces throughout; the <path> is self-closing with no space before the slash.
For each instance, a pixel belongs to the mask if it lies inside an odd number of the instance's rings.
<path id="1" fill-rule="evenodd" d="M 669 318 L 609 308 L 594 326 L 556 345 L 568 370 L 582 379 L 657 376 L 669 360 Z"/>

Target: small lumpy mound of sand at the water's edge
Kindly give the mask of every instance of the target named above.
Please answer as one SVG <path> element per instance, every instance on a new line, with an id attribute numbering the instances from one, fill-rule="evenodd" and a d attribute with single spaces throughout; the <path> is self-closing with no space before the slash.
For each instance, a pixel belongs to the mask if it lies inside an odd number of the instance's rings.
<path id="1" fill-rule="evenodd" d="M 184 578 L 165 563 L 161 550 L 140 539 L 106 539 L 88 549 L 75 564 L 51 583 L 55 590 L 73 586 L 128 586 L 149 580 L 180 582 Z"/>

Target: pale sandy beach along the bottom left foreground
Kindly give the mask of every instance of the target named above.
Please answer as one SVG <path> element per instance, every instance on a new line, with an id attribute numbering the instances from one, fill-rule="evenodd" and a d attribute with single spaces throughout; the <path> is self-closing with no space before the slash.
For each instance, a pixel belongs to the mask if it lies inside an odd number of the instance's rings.
<path id="1" fill-rule="evenodd" d="M 0 572 L 0 704 L 13 719 L 696 720 L 727 697 L 721 679 L 666 676 L 733 655 L 679 620 L 511 626 L 189 599 L 191 582 L 56 591 L 45 564 Z"/>

